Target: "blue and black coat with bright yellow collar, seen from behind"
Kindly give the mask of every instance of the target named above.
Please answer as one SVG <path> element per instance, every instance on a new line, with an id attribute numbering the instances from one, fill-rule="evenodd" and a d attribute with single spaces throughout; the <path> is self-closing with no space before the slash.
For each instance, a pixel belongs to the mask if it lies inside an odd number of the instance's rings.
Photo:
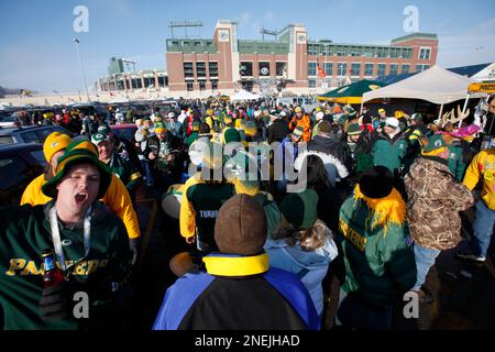
<path id="1" fill-rule="evenodd" d="M 255 256 L 211 253 L 207 272 L 168 287 L 153 330 L 318 330 L 315 305 L 293 273 Z"/>

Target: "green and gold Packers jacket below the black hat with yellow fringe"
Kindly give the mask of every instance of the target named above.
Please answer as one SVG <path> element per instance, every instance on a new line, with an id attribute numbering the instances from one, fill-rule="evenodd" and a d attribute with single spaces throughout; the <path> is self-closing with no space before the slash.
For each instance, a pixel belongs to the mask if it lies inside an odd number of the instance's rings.
<path id="1" fill-rule="evenodd" d="M 394 197 L 388 196 L 385 200 L 391 209 L 402 209 L 399 217 L 405 221 L 404 201 L 397 198 L 400 196 L 395 189 L 392 195 Z M 407 224 L 388 221 L 373 229 L 376 212 L 364 199 L 351 196 L 340 210 L 337 240 L 345 266 L 342 288 L 348 294 L 355 293 L 370 305 L 383 307 L 402 299 L 415 284 L 415 256 L 406 245 Z"/>

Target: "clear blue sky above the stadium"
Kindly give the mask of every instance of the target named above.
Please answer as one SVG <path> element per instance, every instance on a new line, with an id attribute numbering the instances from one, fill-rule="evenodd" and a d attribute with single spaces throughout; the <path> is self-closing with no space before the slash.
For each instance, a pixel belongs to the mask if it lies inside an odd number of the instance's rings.
<path id="1" fill-rule="evenodd" d="M 79 4 L 89 11 L 88 33 L 73 31 Z M 201 37 L 212 37 L 217 21 L 226 19 L 239 21 L 240 38 L 261 38 L 262 26 L 302 23 L 311 40 L 388 44 L 406 34 L 407 6 L 418 8 L 420 32 L 439 35 L 440 66 L 495 61 L 493 0 L 0 0 L 0 86 L 84 90 L 76 36 L 90 86 L 107 74 L 111 56 L 135 59 L 136 69 L 165 68 L 170 20 L 202 21 L 200 31 L 189 32 Z"/>

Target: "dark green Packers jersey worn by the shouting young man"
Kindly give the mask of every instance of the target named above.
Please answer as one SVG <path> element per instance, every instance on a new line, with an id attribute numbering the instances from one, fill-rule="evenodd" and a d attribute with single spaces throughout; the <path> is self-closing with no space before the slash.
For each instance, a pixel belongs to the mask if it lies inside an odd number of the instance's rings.
<path id="1" fill-rule="evenodd" d="M 38 304 L 43 290 L 42 251 L 53 249 L 45 206 L 8 207 L 0 211 L 0 310 L 6 330 L 74 330 L 116 326 L 113 298 L 124 287 L 132 258 L 122 220 L 102 204 L 94 205 L 90 250 L 72 275 L 74 292 L 89 296 L 89 319 L 44 321 Z M 85 253 L 82 229 L 59 226 L 66 264 Z M 116 290 L 117 289 L 117 290 Z M 70 302 L 70 301 L 69 301 Z"/>

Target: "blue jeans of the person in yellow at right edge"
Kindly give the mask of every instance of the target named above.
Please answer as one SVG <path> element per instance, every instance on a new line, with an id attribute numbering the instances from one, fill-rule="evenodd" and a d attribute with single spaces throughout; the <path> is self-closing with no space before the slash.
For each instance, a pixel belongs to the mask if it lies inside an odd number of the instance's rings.
<path id="1" fill-rule="evenodd" d="M 473 239 L 470 242 L 471 252 L 474 255 L 486 257 L 490 240 L 495 223 L 495 210 L 485 206 L 483 200 L 476 204 L 476 215 L 473 223 Z"/>

